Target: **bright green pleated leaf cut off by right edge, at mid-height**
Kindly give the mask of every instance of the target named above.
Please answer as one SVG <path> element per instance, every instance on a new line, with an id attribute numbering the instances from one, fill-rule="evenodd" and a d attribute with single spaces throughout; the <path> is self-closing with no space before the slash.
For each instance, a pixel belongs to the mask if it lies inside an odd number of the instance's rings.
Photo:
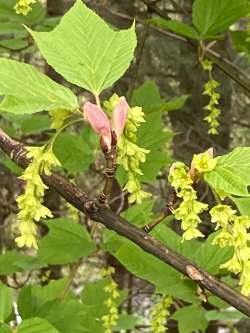
<path id="1" fill-rule="evenodd" d="M 214 170 L 205 173 L 209 185 L 228 194 L 247 197 L 250 184 L 250 147 L 238 147 L 231 153 L 217 157 Z"/>

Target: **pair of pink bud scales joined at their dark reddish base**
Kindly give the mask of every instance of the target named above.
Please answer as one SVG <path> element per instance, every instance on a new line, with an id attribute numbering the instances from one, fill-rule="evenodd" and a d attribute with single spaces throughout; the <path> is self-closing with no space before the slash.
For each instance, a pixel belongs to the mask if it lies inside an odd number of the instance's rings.
<path id="1" fill-rule="evenodd" d="M 128 116 L 129 105 L 125 97 L 120 97 L 114 108 L 111 119 L 96 104 L 86 102 L 83 106 L 84 118 L 94 131 L 100 135 L 100 145 L 103 152 L 111 149 L 123 133 Z"/>

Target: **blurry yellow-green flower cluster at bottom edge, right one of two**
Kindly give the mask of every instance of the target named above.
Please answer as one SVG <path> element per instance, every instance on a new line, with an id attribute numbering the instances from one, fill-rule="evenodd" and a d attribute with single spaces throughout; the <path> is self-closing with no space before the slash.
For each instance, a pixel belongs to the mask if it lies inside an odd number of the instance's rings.
<path id="1" fill-rule="evenodd" d="M 173 300 L 169 296 L 162 296 L 160 301 L 156 303 L 151 310 L 151 332 L 164 333 L 166 332 L 167 318 L 170 315 L 169 307 Z"/>

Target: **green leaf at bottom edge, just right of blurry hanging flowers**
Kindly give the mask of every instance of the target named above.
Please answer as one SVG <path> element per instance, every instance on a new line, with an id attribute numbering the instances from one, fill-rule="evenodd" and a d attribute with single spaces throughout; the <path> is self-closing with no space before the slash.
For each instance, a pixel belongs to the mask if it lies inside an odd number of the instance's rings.
<path id="1" fill-rule="evenodd" d="M 189 305 L 177 310 L 172 319 L 178 321 L 180 333 L 193 333 L 201 330 L 205 332 L 208 321 L 206 310 L 199 305 Z"/>

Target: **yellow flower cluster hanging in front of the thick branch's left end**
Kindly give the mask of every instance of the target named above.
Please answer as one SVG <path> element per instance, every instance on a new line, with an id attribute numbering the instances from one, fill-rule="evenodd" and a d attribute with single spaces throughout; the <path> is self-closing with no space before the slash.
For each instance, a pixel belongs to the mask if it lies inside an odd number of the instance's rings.
<path id="1" fill-rule="evenodd" d="M 25 169 L 20 179 L 25 180 L 25 191 L 17 198 L 19 213 L 19 231 L 21 236 L 16 238 L 18 246 L 37 248 L 36 234 L 38 222 L 41 218 L 53 217 L 51 211 L 43 202 L 44 192 L 47 186 L 43 183 L 40 174 L 51 174 L 51 168 L 60 163 L 53 154 L 51 148 L 28 147 L 27 157 L 32 162 Z"/>

